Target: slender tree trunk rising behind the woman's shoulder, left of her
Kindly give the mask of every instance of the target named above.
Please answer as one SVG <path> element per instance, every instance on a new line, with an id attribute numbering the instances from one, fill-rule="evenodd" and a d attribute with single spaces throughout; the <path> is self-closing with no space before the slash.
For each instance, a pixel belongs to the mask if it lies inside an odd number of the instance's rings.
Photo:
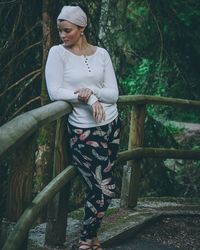
<path id="1" fill-rule="evenodd" d="M 43 28 L 43 75 L 42 75 L 42 87 L 41 87 L 41 105 L 46 105 L 50 102 L 46 82 L 44 69 L 48 56 L 48 51 L 52 45 L 52 34 L 51 34 L 51 18 L 49 10 L 51 7 L 51 0 L 44 0 L 42 2 L 42 28 Z M 43 189 L 49 181 L 52 179 L 52 168 L 53 168 L 53 151 L 54 151 L 54 140 L 55 140 L 55 122 L 48 124 L 40 129 L 39 132 L 39 145 L 36 159 L 36 183 L 35 192 L 39 192 Z M 41 214 L 39 222 L 46 220 L 46 209 Z"/>

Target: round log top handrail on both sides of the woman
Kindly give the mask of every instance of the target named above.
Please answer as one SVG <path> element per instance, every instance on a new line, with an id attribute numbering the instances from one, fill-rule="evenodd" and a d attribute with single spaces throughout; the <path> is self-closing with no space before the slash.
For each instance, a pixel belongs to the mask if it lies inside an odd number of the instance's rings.
<path id="1" fill-rule="evenodd" d="M 120 96 L 118 103 L 200 107 L 200 101 L 146 95 Z M 0 127 L 0 157 L 3 158 L 6 153 L 28 138 L 38 127 L 57 120 L 71 112 L 71 109 L 69 103 L 56 101 L 24 113 Z"/>

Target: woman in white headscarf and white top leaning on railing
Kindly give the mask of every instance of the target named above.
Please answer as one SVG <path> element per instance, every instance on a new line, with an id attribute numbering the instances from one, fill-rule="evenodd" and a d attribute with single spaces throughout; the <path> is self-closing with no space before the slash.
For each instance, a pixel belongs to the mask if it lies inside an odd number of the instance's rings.
<path id="1" fill-rule="evenodd" d="M 108 52 L 89 44 L 87 15 L 80 5 L 64 6 L 57 18 L 62 44 L 46 64 L 51 100 L 72 104 L 68 131 L 73 164 L 88 186 L 79 249 L 101 250 L 97 231 L 114 197 L 112 167 L 119 148 L 118 87 Z"/>

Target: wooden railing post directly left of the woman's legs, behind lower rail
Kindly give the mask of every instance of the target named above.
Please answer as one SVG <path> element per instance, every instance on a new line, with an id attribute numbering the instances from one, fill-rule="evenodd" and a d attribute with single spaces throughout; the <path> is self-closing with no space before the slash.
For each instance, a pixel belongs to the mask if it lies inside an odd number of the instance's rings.
<path id="1" fill-rule="evenodd" d="M 57 121 L 56 127 L 53 177 L 69 164 L 66 130 L 66 117 L 62 117 Z M 66 241 L 69 190 L 70 184 L 66 185 L 48 205 L 45 242 L 49 246 L 62 245 Z"/>

